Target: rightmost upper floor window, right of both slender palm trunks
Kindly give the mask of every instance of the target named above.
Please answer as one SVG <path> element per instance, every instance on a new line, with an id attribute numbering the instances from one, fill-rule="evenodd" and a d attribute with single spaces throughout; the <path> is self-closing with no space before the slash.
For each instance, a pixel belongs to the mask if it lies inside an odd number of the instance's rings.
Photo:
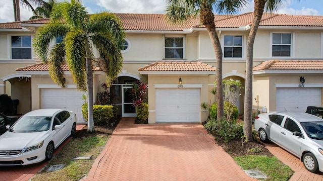
<path id="1" fill-rule="evenodd" d="M 291 34 L 273 33 L 272 56 L 291 56 Z"/>

